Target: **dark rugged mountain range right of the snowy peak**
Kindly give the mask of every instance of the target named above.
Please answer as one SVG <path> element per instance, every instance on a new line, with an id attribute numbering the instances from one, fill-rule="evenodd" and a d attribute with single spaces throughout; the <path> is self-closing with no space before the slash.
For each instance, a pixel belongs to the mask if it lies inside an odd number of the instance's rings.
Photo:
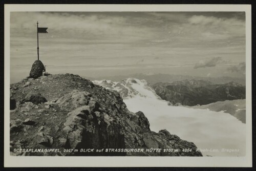
<path id="1" fill-rule="evenodd" d="M 153 89 L 163 100 L 188 106 L 245 99 L 245 86 L 233 81 L 214 84 L 208 80 L 186 79 L 172 83 L 158 82 Z"/>

